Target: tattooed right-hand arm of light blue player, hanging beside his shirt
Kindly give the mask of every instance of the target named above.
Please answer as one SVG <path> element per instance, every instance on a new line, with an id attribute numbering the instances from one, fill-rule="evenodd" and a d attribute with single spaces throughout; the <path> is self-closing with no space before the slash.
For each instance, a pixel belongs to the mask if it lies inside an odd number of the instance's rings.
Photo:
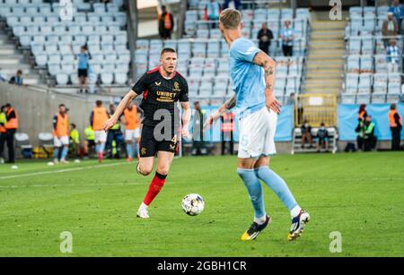
<path id="1" fill-rule="evenodd" d="M 274 59 L 269 57 L 263 51 L 259 51 L 253 59 L 254 64 L 258 64 L 264 68 L 265 75 L 265 98 L 267 99 L 267 107 L 276 112 L 280 113 L 280 104 L 274 96 L 274 86 L 275 86 L 275 73 L 277 63 Z"/>

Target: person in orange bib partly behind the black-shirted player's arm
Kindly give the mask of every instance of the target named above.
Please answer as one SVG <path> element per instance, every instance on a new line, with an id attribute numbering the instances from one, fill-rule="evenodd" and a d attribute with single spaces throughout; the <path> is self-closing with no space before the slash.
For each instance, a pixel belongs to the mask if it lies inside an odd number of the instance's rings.
<path id="1" fill-rule="evenodd" d="M 134 156 L 138 159 L 137 144 L 140 142 L 140 117 L 137 107 L 133 102 L 130 102 L 124 111 L 124 124 L 125 141 L 127 142 L 127 161 L 131 162 Z"/>

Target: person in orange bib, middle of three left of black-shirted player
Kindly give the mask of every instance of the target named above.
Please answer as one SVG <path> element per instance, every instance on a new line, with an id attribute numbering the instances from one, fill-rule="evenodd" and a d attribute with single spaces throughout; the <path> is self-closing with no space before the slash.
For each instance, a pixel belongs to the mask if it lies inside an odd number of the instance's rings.
<path id="1" fill-rule="evenodd" d="M 94 130 L 95 150 L 100 163 L 102 159 L 104 159 L 105 142 L 107 142 L 107 132 L 104 131 L 104 123 L 109 118 L 110 114 L 108 114 L 107 109 L 102 106 L 102 101 L 97 100 L 90 116 L 90 125 L 92 125 L 92 130 Z"/>

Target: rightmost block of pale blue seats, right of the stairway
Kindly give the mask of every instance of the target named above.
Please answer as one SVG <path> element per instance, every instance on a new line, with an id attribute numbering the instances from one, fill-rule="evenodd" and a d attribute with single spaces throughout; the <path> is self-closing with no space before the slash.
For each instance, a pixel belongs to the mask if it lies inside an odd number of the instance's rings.
<path id="1" fill-rule="evenodd" d="M 388 6 L 354 6 L 346 28 L 347 64 L 342 103 L 391 103 L 401 94 L 403 37 L 382 36 Z M 396 39 L 400 52 L 399 72 L 388 72 L 384 41 Z"/>

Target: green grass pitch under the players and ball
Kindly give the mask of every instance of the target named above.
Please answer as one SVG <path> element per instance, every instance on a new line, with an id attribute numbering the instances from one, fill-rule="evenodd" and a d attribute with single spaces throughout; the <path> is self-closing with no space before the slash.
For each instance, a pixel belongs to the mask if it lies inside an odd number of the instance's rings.
<path id="1" fill-rule="evenodd" d="M 402 152 L 274 157 L 271 168 L 312 216 L 292 243 L 289 212 L 267 186 L 272 224 L 256 241 L 240 241 L 253 214 L 235 157 L 175 159 L 148 220 L 136 219 L 136 210 L 153 175 L 136 175 L 135 163 L 4 165 L 0 255 L 404 256 L 403 159 Z M 197 217 L 180 209 L 187 193 L 205 199 Z M 73 235 L 72 254 L 60 253 L 62 231 Z M 341 254 L 329 252 L 332 231 L 342 234 Z"/>

